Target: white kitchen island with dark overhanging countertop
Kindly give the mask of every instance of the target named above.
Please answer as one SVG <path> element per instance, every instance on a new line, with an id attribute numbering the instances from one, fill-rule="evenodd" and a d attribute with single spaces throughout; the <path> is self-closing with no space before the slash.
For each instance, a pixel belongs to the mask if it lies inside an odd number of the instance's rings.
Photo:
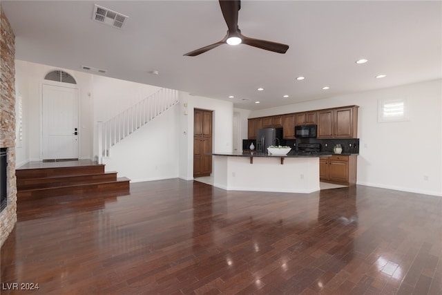
<path id="1" fill-rule="evenodd" d="M 213 186 L 228 191 L 319 191 L 319 157 L 267 153 L 211 153 Z"/>

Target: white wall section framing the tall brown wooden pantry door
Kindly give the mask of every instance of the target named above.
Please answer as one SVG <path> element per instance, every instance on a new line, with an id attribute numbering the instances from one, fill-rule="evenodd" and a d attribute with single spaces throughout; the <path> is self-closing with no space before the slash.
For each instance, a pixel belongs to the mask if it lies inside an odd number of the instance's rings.
<path id="1" fill-rule="evenodd" d="M 213 111 L 212 151 L 233 149 L 233 104 L 218 99 L 181 93 L 180 97 L 180 178 L 193 179 L 193 111 L 195 108 Z M 184 105 L 187 104 L 187 107 Z M 187 111 L 187 115 L 183 114 Z"/>

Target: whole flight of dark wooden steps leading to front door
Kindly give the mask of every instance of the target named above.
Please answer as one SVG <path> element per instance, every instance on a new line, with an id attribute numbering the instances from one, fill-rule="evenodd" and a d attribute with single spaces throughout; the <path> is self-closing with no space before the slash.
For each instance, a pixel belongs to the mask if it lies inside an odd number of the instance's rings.
<path id="1" fill-rule="evenodd" d="M 81 193 L 129 193 L 128 178 L 104 171 L 104 164 L 48 166 L 17 169 L 17 199 L 76 195 Z"/>

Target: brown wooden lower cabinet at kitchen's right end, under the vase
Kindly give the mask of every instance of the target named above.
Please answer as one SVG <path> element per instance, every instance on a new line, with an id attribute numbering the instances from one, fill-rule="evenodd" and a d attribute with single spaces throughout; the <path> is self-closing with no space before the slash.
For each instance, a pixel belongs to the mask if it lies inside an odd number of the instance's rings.
<path id="1" fill-rule="evenodd" d="M 356 184 L 357 155 L 332 155 L 319 158 L 319 178 L 323 182 Z"/>

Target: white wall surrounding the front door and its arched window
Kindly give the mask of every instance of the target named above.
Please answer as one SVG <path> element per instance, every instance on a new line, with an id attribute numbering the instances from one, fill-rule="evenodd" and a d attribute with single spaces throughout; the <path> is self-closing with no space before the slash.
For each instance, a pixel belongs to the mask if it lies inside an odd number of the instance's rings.
<path id="1" fill-rule="evenodd" d="M 93 101 L 89 95 L 92 92 L 92 75 L 73 70 L 66 70 L 27 61 L 15 61 L 16 93 L 23 99 L 23 138 L 21 148 L 17 149 L 17 166 L 29 161 L 41 160 L 41 84 L 62 85 L 59 82 L 45 81 L 44 77 L 52 70 L 64 70 L 77 81 L 79 89 L 79 158 L 92 157 L 93 139 Z"/>

